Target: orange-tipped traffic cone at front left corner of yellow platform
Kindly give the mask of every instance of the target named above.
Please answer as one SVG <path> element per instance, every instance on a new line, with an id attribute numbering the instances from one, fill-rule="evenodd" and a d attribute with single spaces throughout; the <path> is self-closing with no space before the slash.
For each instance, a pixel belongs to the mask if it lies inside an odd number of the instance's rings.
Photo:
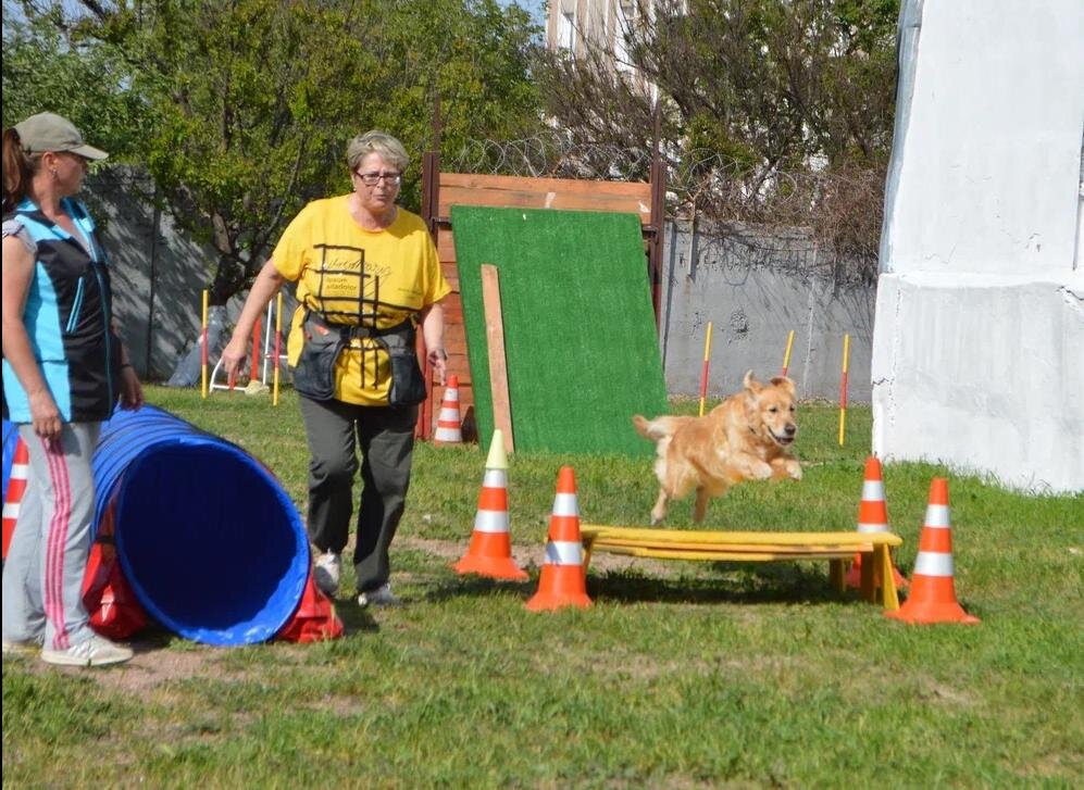
<path id="1" fill-rule="evenodd" d="M 563 606 L 590 606 L 584 576 L 584 547 L 580 540 L 576 475 L 571 466 L 562 466 L 557 476 L 546 563 L 538 577 L 538 591 L 527 601 L 532 612 Z"/>

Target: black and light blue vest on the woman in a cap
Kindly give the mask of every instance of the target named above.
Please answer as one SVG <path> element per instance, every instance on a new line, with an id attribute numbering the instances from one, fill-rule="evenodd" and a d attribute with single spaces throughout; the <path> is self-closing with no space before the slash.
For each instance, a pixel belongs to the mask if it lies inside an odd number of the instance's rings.
<path id="1" fill-rule="evenodd" d="M 62 202 L 89 253 L 29 199 L 4 215 L 4 235 L 13 223 L 21 225 L 37 248 L 23 323 L 57 407 L 64 422 L 98 422 L 110 417 L 120 394 L 121 344 L 111 326 L 109 267 L 86 206 L 71 198 Z M 3 416 L 33 422 L 26 392 L 7 360 Z"/>

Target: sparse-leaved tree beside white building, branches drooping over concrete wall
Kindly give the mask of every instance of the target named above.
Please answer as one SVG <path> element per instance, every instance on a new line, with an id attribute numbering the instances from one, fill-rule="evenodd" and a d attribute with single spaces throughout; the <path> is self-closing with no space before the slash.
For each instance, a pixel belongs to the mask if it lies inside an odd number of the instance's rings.
<path id="1" fill-rule="evenodd" d="M 898 0 L 633 0 L 619 52 L 547 53 L 547 110 L 577 141 L 647 149 L 653 113 L 682 208 L 813 225 L 875 273 Z M 618 58 L 623 63 L 614 67 Z M 631 66 L 621 67 L 621 66 Z"/>

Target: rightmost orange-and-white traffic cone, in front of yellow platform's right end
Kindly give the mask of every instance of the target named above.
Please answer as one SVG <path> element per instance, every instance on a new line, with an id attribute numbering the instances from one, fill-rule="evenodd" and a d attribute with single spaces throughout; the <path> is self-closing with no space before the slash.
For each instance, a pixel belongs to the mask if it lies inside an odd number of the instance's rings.
<path id="1" fill-rule="evenodd" d="M 952 582 L 952 528 L 948 522 L 948 480 L 935 477 L 930 484 L 926 521 L 919 538 L 911 594 L 895 612 L 885 615 L 905 623 L 979 622 L 956 600 Z"/>

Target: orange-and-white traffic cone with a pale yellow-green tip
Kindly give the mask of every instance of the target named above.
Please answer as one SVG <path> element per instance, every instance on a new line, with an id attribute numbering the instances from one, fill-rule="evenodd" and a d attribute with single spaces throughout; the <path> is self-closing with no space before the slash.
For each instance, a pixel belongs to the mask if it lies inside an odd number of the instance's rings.
<path id="1" fill-rule="evenodd" d="M 495 579 L 527 578 L 526 572 L 512 559 L 512 536 L 508 530 L 508 455 L 500 428 L 494 431 L 489 444 L 471 546 L 452 568 L 458 574 L 479 574 Z"/>

